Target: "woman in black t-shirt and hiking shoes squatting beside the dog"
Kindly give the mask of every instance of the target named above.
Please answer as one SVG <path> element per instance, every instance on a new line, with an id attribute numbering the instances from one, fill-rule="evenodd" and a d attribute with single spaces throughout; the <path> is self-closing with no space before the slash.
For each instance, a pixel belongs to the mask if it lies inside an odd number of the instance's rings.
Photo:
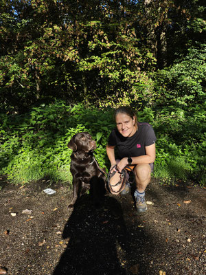
<path id="1" fill-rule="evenodd" d="M 150 182 L 151 172 L 155 162 L 155 133 L 148 123 L 137 122 L 135 113 L 129 107 L 119 107 L 115 111 L 116 129 L 113 129 L 108 137 L 106 153 L 111 162 L 110 173 L 116 169 L 111 177 L 111 185 L 115 185 L 120 179 L 122 169 L 127 165 L 135 165 L 135 201 L 137 212 L 147 210 L 145 190 Z M 115 159 L 115 147 L 117 147 L 118 159 Z M 117 168 L 113 168 L 117 164 Z M 118 193 L 120 186 L 114 186 Z M 126 184 L 120 194 L 124 195 L 130 190 Z"/>

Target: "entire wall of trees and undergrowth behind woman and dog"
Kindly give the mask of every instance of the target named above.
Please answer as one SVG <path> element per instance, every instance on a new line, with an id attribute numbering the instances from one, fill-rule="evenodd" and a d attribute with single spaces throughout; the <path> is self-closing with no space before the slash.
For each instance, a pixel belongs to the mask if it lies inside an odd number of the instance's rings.
<path id="1" fill-rule="evenodd" d="M 205 185 L 203 0 L 1 0 L 0 173 L 71 181 L 67 142 L 89 131 L 108 168 L 113 108 L 157 135 L 155 177 Z"/>

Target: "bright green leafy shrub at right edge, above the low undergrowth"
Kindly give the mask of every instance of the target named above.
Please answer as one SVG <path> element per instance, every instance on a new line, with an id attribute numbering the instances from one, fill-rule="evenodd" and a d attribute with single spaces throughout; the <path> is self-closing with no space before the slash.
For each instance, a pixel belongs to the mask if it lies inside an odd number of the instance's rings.
<path id="1" fill-rule="evenodd" d="M 188 49 L 187 55 L 155 74 L 156 102 L 191 107 L 205 100 L 206 44 Z"/>

